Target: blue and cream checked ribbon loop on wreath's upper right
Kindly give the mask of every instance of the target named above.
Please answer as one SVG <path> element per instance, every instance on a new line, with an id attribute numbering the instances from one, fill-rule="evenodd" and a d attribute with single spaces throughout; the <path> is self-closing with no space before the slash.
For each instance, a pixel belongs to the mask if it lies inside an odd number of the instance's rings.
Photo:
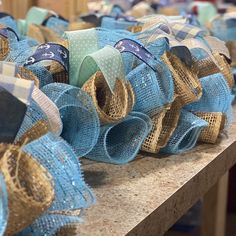
<path id="1" fill-rule="evenodd" d="M 205 30 L 189 24 L 171 23 L 170 25 L 175 38 L 179 41 L 207 34 Z"/>

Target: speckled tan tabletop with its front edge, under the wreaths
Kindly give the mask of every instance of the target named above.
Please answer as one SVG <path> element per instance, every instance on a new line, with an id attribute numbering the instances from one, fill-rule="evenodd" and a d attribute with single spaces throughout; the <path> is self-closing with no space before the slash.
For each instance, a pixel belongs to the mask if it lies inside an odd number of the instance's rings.
<path id="1" fill-rule="evenodd" d="M 178 156 L 142 155 L 125 166 L 83 160 L 97 204 L 77 235 L 163 235 L 235 163 L 236 124 L 218 144 Z"/>

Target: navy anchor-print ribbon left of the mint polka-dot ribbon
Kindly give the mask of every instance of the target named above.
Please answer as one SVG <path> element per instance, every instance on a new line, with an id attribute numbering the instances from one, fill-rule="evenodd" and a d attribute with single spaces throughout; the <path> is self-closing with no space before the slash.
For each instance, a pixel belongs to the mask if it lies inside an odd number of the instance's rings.
<path id="1" fill-rule="evenodd" d="M 69 51 L 67 48 L 57 43 L 41 44 L 35 53 L 28 58 L 24 66 L 47 60 L 56 61 L 60 63 L 67 72 L 69 71 Z"/>

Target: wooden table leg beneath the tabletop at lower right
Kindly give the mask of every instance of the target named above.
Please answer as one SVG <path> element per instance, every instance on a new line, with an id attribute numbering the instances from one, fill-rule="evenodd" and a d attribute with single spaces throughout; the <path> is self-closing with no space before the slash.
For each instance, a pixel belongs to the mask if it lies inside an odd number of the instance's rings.
<path id="1" fill-rule="evenodd" d="M 204 196 L 202 236 L 225 236 L 228 177 L 227 172 Z"/>

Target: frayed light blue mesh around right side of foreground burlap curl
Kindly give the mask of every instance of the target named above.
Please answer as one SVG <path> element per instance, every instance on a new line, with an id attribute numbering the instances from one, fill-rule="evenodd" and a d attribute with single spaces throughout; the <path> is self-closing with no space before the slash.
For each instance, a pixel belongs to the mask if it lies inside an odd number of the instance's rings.
<path id="1" fill-rule="evenodd" d="M 95 202 L 91 189 L 85 184 L 80 163 L 72 148 L 61 138 L 48 133 L 23 147 L 52 175 L 55 199 L 49 210 L 19 235 L 54 235 L 61 226 L 81 221 L 75 211 Z"/>

